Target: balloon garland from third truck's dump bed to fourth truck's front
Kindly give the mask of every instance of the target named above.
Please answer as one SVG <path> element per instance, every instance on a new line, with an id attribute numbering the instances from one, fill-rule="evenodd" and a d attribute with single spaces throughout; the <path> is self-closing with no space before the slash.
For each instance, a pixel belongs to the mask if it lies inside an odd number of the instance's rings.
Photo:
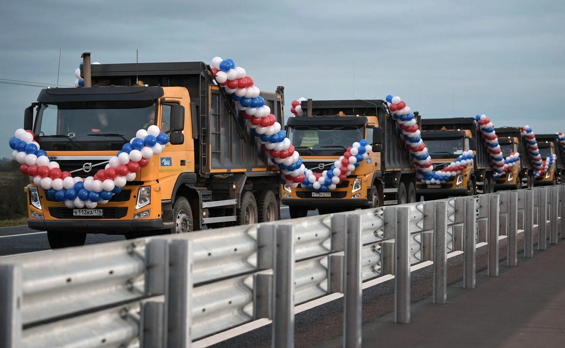
<path id="1" fill-rule="evenodd" d="M 490 122 L 489 118 L 485 115 L 477 115 L 475 119 L 479 122 L 479 130 L 485 139 L 486 151 L 489 152 L 490 161 L 494 166 L 493 177 L 495 179 L 500 178 L 513 166 L 518 165 L 520 154 L 518 152 L 512 152 L 510 156 L 504 158 L 492 122 Z"/>

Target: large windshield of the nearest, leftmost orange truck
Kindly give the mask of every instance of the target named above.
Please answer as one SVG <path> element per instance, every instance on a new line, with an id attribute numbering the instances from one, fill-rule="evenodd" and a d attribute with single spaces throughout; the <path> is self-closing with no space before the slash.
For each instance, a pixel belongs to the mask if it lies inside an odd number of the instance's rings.
<path id="1" fill-rule="evenodd" d="M 132 139 L 138 130 L 155 124 L 156 111 L 154 100 L 41 103 L 34 133 L 39 136 L 68 136 L 75 141 L 104 139 L 89 134 L 111 134 L 109 138 L 112 139 Z M 60 141 L 64 138 L 51 139 Z"/>

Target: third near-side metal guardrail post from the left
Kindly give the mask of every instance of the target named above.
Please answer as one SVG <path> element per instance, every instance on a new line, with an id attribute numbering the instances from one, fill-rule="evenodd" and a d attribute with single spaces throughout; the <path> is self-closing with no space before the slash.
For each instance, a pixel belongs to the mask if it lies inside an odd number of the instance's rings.
<path id="1" fill-rule="evenodd" d="M 277 226 L 271 346 L 294 347 L 294 227 Z"/>

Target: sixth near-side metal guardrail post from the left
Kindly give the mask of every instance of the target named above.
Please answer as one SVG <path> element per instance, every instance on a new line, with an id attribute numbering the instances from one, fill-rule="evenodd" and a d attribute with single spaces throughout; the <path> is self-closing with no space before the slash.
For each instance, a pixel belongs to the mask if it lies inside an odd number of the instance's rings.
<path id="1" fill-rule="evenodd" d="M 433 303 L 447 303 L 447 202 L 435 203 Z"/>

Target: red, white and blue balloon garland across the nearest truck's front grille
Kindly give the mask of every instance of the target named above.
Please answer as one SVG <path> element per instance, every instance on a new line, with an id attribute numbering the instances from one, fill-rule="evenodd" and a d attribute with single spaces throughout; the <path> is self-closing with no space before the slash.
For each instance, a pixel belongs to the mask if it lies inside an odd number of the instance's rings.
<path id="1" fill-rule="evenodd" d="M 40 149 L 31 130 L 18 129 L 10 141 L 14 149 L 12 158 L 18 161 L 20 171 L 29 175 L 37 187 L 42 187 L 49 197 L 64 202 L 67 208 L 92 209 L 97 204 L 106 204 L 128 181 L 136 178 L 137 171 L 149 164 L 149 158 L 159 155 L 169 142 L 158 126 L 151 125 L 137 131 L 136 138 L 124 144 L 121 151 L 108 161 L 93 177 L 84 180 L 61 171 L 59 164 L 50 161 L 47 152 Z"/>

